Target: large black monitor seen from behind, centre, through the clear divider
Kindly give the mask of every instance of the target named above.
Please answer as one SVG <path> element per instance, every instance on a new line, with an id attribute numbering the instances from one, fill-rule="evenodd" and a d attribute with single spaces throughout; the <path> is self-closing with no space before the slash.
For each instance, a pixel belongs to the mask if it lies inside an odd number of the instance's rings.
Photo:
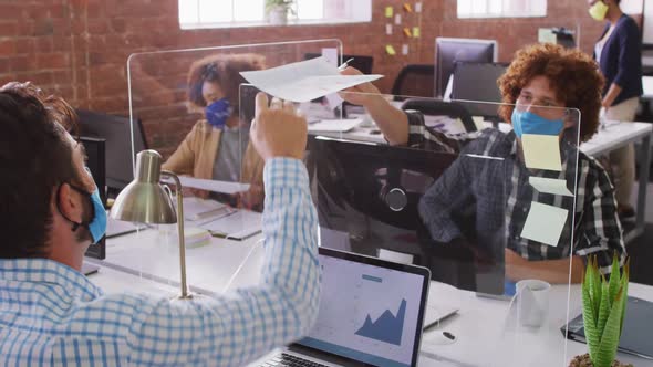
<path id="1" fill-rule="evenodd" d="M 381 250 L 401 252 L 428 268 L 436 281 L 502 293 L 502 248 L 479 259 L 494 243 L 436 242 L 419 216 L 422 196 L 457 155 L 325 137 L 312 139 L 309 151 L 322 247 L 373 256 Z M 475 222 L 465 226 L 474 231 Z"/>

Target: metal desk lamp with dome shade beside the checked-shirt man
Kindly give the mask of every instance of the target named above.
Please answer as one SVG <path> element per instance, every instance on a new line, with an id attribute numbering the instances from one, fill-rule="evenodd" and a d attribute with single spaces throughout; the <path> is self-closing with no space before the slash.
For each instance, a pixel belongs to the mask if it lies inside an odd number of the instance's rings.
<path id="1" fill-rule="evenodd" d="M 184 243 L 184 208 L 182 182 L 177 175 L 160 170 L 162 157 L 156 150 L 143 150 L 136 155 L 136 175 L 115 199 L 111 218 L 116 220 L 170 224 L 177 223 L 179 234 L 179 265 L 182 275 L 182 300 L 193 296 L 186 287 L 186 244 Z M 173 200 L 160 186 L 160 177 L 169 177 L 175 181 L 177 211 Z"/>

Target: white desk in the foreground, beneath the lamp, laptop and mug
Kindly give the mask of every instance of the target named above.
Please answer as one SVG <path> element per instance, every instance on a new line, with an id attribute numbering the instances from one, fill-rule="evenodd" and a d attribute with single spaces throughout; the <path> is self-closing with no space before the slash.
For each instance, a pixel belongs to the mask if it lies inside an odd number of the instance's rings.
<path id="1" fill-rule="evenodd" d="M 188 249 L 186 259 L 191 290 L 221 293 L 252 248 L 252 255 L 235 277 L 231 287 L 256 284 L 262 260 L 262 251 L 258 251 L 262 247 L 256 244 L 259 238 L 257 235 L 243 242 L 214 239 L 206 247 Z M 106 260 L 91 260 L 103 266 L 90 280 L 110 293 L 136 291 L 164 296 L 178 294 L 176 241 L 165 242 L 165 238 L 162 240 L 158 232 L 152 229 L 110 239 Z M 629 291 L 630 295 L 653 301 L 651 286 L 631 284 Z M 537 332 L 516 333 L 505 327 L 508 302 L 479 298 L 473 292 L 432 282 L 429 302 L 460 310 L 459 315 L 439 327 L 456 335 L 457 340 L 452 345 L 435 345 L 433 338 L 438 331 L 425 333 L 421 366 L 567 366 L 574 355 L 587 350 L 584 344 L 566 340 L 559 329 L 567 319 L 567 286 L 552 289 L 546 327 Z M 570 316 L 573 317 L 580 310 L 578 285 L 572 286 L 571 294 Z M 653 366 L 653 360 L 626 355 L 619 355 L 619 358 L 636 366 Z"/>

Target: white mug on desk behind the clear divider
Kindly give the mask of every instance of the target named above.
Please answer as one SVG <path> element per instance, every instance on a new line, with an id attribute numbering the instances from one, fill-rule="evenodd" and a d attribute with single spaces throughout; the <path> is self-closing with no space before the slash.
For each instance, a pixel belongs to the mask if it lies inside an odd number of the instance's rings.
<path id="1" fill-rule="evenodd" d="M 517 319 L 519 325 L 540 327 L 549 313 L 549 291 L 551 284 L 540 280 L 517 282 Z"/>

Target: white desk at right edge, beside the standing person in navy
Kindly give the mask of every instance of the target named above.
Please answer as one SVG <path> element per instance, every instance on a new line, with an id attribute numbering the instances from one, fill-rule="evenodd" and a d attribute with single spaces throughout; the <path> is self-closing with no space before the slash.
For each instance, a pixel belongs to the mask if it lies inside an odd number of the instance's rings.
<path id="1" fill-rule="evenodd" d="M 638 184 L 638 203 L 634 230 L 625 234 L 628 243 L 644 233 L 644 214 L 646 213 L 646 186 L 649 167 L 651 167 L 651 135 L 653 124 L 608 122 L 589 141 L 581 144 L 580 149 L 589 156 L 601 156 L 631 143 L 641 141 L 638 153 L 640 161 L 640 179 Z"/>

